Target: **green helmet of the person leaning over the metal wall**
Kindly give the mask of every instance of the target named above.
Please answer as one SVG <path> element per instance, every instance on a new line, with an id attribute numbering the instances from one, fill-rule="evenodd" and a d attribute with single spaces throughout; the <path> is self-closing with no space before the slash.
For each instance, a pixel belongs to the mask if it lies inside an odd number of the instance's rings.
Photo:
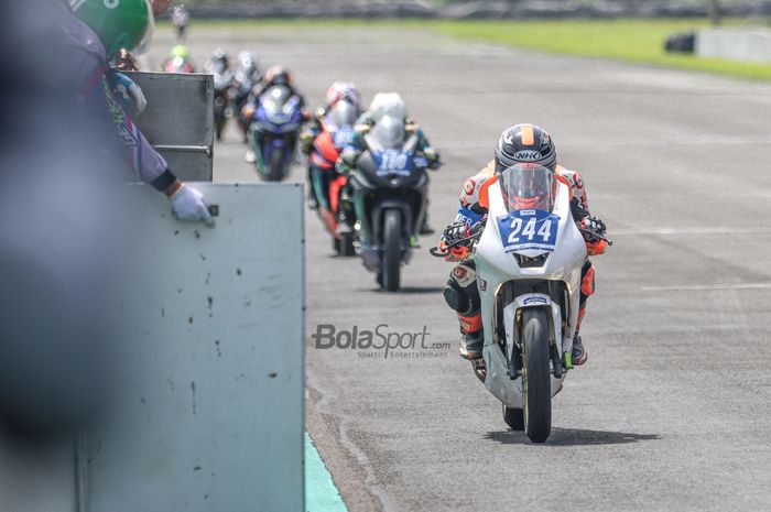
<path id="1" fill-rule="evenodd" d="M 69 6 L 99 35 L 108 57 L 120 48 L 141 53 L 152 37 L 150 0 L 69 0 Z"/>

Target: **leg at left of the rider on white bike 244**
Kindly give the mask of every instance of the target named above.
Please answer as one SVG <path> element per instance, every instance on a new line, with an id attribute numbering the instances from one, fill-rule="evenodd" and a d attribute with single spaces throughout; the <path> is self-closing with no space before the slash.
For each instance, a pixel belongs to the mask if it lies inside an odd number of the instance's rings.
<path id="1" fill-rule="evenodd" d="M 444 298 L 447 305 L 458 314 L 460 357 L 466 359 L 481 358 L 485 336 L 474 260 L 465 260 L 455 265 L 447 280 Z"/>

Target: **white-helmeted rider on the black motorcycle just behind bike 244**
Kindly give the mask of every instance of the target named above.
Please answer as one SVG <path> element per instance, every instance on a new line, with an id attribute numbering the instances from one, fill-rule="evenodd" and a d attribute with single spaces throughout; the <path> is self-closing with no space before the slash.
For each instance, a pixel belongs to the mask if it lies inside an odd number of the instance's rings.
<path id="1" fill-rule="evenodd" d="M 403 123 L 404 140 L 413 134 L 417 137 L 416 149 L 421 151 L 428 161 L 428 168 L 439 168 L 439 153 L 431 145 L 428 139 L 423 133 L 423 129 L 414 119 L 408 117 L 406 105 L 399 92 L 378 92 L 372 98 L 369 109 L 357 120 L 356 131 L 351 143 L 340 153 L 337 161 L 339 173 L 349 173 L 356 167 L 356 160 L 367 149 L 365 135 L 376 126 L 387 118 L 387 122 L 397 119 Z M 428 227 L 428 216 L 424 217 L 421 235 L 431 235 L 433 230 Z"/>

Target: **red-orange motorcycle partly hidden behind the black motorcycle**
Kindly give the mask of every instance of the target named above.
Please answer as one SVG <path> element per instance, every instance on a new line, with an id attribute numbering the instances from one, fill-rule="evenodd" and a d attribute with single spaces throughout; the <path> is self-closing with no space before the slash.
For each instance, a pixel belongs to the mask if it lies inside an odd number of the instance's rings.
<path id="1" fill-rule="evenodd" d="M 354 233 L 348 229 L 345 213 L 339 208 L 340 195 L 348 181 L 345 174 L 335 171 L 340 151 L 351 142 L 358 109 L 346 100 L 338 101 L 322 119 L 322 132 L 311 148 L 310 176 L 314 197 L 318 204 L 318 216 L 333 237 L 335 252 L 354 255 Z"/>

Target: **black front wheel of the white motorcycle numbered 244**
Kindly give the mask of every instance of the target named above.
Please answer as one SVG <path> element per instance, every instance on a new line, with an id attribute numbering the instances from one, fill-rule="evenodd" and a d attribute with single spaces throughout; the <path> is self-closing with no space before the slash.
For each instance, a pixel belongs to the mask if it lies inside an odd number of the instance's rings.
<path id="1" fill-rule="evenodd" d="M 524 431 L 533 443 L 545 442 L 552 433 L 552 375 L 550 373 L 546 312 L 522 312 L 522 389 Z"/>

